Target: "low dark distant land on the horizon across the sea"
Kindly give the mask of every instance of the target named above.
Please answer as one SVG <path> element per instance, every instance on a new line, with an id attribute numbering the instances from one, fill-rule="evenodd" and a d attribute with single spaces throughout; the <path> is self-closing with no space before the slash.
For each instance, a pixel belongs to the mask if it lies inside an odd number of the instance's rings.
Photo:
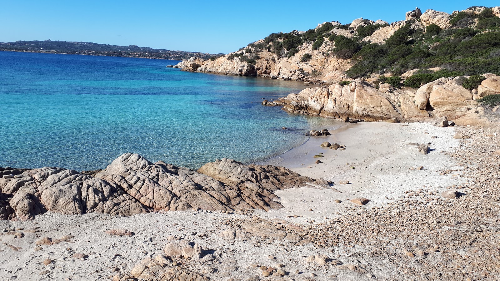
<path id="1" fill-rule="evenodd" d="M 181 51 L 168 49 L 153 49 L 150 47 L 139 47 L 137 45 L 118 46 L 99 44 L 92 42 L 68 42 L 34 40 L 34 41 L 15 41 L 0 42 L 0 50 L 4 51 L 25 51 L 25 52 L 46 52 L 63 54 L 90 54 L 124 57 L 142 57 L 159 59 L 186 59 L 191 56 L 202 58 L 218 57 L 223 53 L 204 53 L 197 51 Z"/>

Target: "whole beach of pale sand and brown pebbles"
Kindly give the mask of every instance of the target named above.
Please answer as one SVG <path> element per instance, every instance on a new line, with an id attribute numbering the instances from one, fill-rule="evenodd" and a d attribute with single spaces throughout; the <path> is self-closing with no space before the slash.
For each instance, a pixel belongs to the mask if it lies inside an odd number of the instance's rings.
<path id="1" fill-rule="evenodd" d="M 455 139 L 456 131 L 473 138 Z M 301 175 L 352 183 L 329 189 L 311 186 L 277 191 L 277 200 L 284 206 L 280 209 L 157 211 L 129 217 L 46 212 L 32 221 L 0 221 L 0 228 L 7 230 L 0 232 L 4 257 L 0 272 L 5 280 L 49 280 L 55 276 L 81 280 L 118 276 L 113 280 L 125 280 L 129 274 L 139 276 L 130 272 L 147 269 L 148 265 L 140 264 L 164 255 L 165 244 L 180 239 L 209 249 L 215 260 L 200 262 L 177 256 L 171 260 L 182 262 L 182 267 L 165 268 L 196 272 L 211 280 L 258 279 L 263 275 L 259 270 L 262 266 L 274 271 L 283 266 L 286 277 L 295 280 L 494 277 L 496 269 L 486 272 L 481 267 L 494 262 L 488 252 L 498 240 L 491 220 L 497 214 L 493 208 L 478 206 L 494 205 L 489 196 L 497 195 L 498 188 L 493 186 L 498 178 L 488 181 L 494 178 L 488 177 L 488 165 L 494 158 L 486 155 L 490 159 L 486 166 L 478 159 L 485 159 L 482 152 L 498 144 L 495 131 L 438 128 L 430 123 L 349 124 L 330 136 L 311 138 L 290 149 L 278 164 Z M 483 135 L 489 138 L 485 142 Z M 342 143 L 347 149 L 319 147 L 325 140 Z M 406 145 L 408 142 L 432 142 L 435 150 L 423 155 L 415 146 Z M 324 155 L 320 158 L 323 162 L 312 164 L 316 159 L 312 155 L 318 151 Z M 424 168 L 414 169 L 420 165 Z M 441 191 L 449 188 L 460 188 L 465 195 L 442 198 Z M 371 201 L 358 206 L 347 199 L 357 196 Z M 105 233 L 107 229 L 128 229 L 134 235 L 113 236 Z M 289 238 L 280 236 L 284 229 Z M 41 237 L 67 240 L 35 244 Z M 18 264 L 25 264 L 24 269 L 17 269 Z M 82 267 L 90 273 L 79 270 Z M 147 275 L 142 277 L 149 280 Z"/>

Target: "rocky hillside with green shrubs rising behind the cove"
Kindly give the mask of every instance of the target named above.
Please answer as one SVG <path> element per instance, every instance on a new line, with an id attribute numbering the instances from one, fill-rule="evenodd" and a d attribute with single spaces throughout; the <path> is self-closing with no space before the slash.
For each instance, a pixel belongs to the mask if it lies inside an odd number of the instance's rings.
<path id="1" fill-rule="evenodd" d="M 472 6 L 452 14 L 416 9 L 391 24 L 324 22 L 307 31 L 271 33 L 187 70 L 332 83 L 418 68 L 404 81 L 412 87 L 451 75 L 500 74 L 499 15 L 499 7 Z M 228 69 L 241 64 L 248 64 L 243 72 Z"/>

